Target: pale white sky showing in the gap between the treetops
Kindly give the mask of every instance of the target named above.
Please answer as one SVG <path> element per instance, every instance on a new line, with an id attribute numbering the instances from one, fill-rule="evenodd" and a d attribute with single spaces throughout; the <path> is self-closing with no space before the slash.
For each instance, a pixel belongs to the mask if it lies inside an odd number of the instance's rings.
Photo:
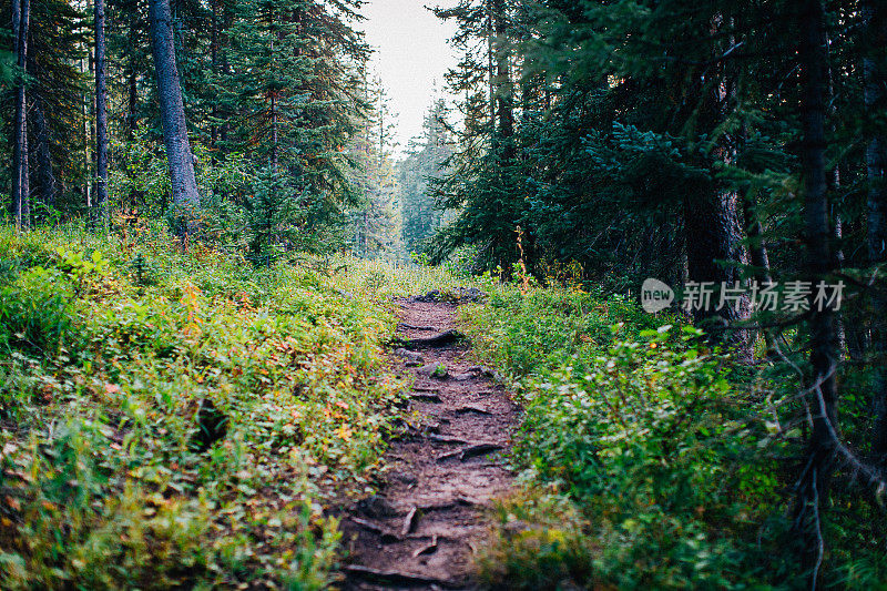
<path id="1" fill-rule="evenodd" d="M 458 61 L 447 43 L 455 24 L 438 20 L 428 6 L 449 6 L 448 0 L 370 0 L 359 23 L 367 42 L 376 49 L 371 68 L 381 77 L 398 114 L 398 151 L 419 135 L 431 103 L 434 86 L 441 89 L 443 72 Z"/>

